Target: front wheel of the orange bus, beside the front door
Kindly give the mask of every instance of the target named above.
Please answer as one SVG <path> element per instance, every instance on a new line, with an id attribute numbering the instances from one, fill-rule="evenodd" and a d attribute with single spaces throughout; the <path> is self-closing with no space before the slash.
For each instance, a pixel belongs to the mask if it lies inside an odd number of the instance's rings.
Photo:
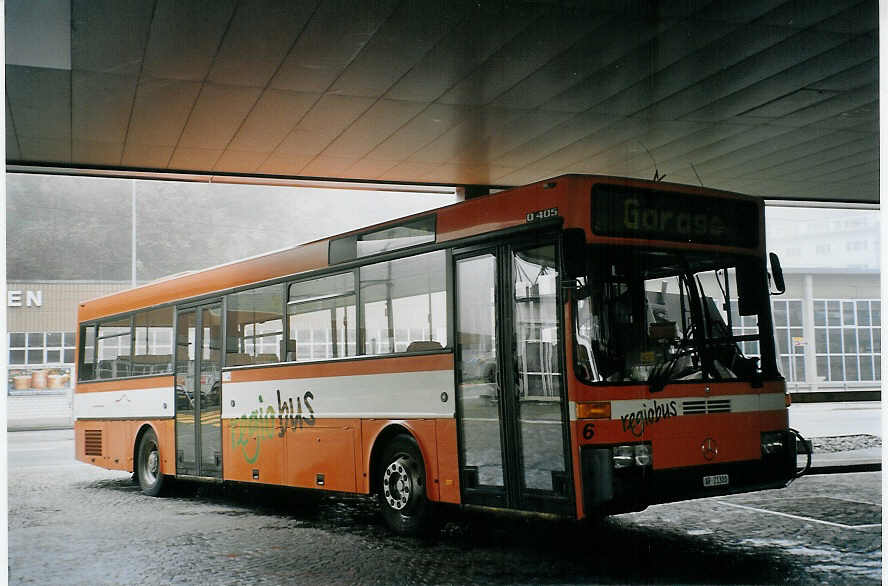
<path id="1" fill-rule="evenodd" d="M 386 525 L 398 535 L 429 530 L 432 504 L 426 498 L 425 464 L 416 440 L 405 434 L 393 437 L 383 448 L 377 473 Z"/>

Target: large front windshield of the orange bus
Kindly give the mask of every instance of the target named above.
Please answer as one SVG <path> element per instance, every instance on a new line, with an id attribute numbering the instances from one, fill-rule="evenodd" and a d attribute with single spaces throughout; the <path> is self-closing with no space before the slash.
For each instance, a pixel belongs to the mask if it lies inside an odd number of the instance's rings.
<path id="1" fill-rule="evenodd" d="M 760 263 L 711 252 L 593 251 L 574 306 L 581 379 L 657 391 L 669 382 L 761 376 L 769 345 L 759 344 L 759 328 L 769 321 L 759 312 L 768 292 L 761 272 L 749 270 Z"/>

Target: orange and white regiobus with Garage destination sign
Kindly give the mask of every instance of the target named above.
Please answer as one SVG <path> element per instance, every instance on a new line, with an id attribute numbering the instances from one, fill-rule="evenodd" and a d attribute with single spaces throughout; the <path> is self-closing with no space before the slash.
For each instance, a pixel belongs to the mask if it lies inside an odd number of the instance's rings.
<path id="1" fill-rule="evenodd" d="M 785 486 L 763 209 L 566 175 L 85 301 L 76 456 L 377 494 L 400 533 Z"/>

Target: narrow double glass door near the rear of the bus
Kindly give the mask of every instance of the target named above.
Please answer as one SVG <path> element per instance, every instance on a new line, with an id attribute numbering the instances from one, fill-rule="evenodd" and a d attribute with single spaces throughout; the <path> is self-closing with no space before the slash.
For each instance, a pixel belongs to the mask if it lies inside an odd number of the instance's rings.
<path id="1" fill-rule="evenodd" d="M 222 305 L 179 309 L 176 474 L 222 477 Z"/>

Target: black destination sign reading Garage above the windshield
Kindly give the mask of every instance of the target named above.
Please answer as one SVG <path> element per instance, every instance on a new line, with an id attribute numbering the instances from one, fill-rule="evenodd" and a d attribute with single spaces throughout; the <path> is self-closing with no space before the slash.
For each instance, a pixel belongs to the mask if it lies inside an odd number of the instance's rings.
<path id="1" fill-rule="evenodd" d="M 624 185 L 592 188 L 592 231 L 601 236 L 753 247 L 758 206 Z"/>

